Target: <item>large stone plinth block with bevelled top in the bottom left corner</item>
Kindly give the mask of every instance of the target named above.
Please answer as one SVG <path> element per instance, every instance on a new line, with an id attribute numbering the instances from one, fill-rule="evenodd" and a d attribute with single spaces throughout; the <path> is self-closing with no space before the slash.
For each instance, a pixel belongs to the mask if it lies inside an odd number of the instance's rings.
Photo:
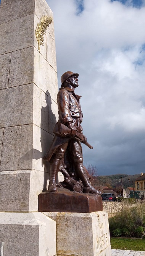
<path id="1" fill-rule="evenodd" d="M 55 256 L 56 223 L 43 213 L 0 213 L 3 256 Z"/>

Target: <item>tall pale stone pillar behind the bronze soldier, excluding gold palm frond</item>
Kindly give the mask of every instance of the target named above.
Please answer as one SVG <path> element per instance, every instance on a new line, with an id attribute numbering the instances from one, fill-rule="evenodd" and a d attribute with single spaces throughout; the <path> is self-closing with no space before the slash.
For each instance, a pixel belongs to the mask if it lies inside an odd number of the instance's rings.
<path id="1" fill-rule="evenodd" d="M 35 36 L 45 0 L 2 0 L 0 7 L 0 211 L 31 212 L 46 190 L 42 157 L 58 119 L 54 25 Z"/>

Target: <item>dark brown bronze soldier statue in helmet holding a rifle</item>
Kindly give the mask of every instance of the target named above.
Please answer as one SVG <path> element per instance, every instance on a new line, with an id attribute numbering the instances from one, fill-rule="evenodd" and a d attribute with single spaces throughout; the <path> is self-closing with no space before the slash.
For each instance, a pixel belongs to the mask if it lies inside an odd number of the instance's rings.
<path id="1" fill-rule="evenodd" d="M 79 86 L 78 76 L 79 74 L 71 71 L 61 76 L 61 88 L 57 95 L 59 120 L 53 130 L 55 137 L 50 150 L 44 157 L 50 162 L 48 192 L 58 190 L 56 175 L 62 170 L 64 177 L 70 179 L 72 176 L 76 180 L 81 180 L 84 193 L 101 194 L 91 186 L 83 165 L 81 142 L 89 144 L 82 133 L 81 96 L 74 92 L 74 89 Z M 90 145 L 89 147 L 92 148 Z"/>

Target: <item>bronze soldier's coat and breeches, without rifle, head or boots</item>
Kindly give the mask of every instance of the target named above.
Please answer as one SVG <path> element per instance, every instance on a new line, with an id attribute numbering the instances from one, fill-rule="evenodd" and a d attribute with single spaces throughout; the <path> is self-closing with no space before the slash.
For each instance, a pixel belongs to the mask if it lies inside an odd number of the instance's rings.
<path id="1" fill-rule="evenodd" d="M 67 125 L 67 122 L 72 122 L 73 127 L 82 134 L 81 122 L 83 115 L 79 102 L 80 98 L 81 96 L 76 95 L 73 89 L 68 87 L 60 88 L 57 96 L 58 122 L 64 125 Z M 64 157 L 68 144 L 69 149 L 71 150 L 71 152 L 69 152 L 71 154 L 71 159 L 73 158 L 75 163 L 83 162 L 81 143 L 72 136 L 60 137 L 55 135 L 52 145 L 44 159 L 51 161 L 51 158 L 55 157 L 61 160 Z"/>

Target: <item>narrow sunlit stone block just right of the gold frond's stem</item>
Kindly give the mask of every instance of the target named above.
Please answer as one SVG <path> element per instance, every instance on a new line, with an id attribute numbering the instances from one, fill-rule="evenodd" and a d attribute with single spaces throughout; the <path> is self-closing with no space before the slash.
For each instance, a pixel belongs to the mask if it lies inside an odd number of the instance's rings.
<path id="1" fill-rule="evenodd" d="M 51 25 L 50 25 L 51 26 Z M 56 50 L 55 50 L 55 41 L 52 36 L 49 34 L 49 27 L 46 31 L 46 49 L 47 49 L 47 61 L 55 69 L 57 72 L 56 67 Z"/>

